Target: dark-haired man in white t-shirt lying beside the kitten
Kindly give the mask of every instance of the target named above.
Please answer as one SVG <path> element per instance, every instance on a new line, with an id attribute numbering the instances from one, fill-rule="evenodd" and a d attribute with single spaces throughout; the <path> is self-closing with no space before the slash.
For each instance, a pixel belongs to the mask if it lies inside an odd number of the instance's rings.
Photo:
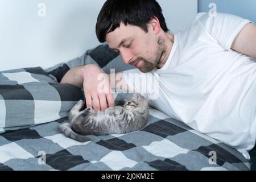
<path id="1" fill-rule="evenodd" d="M 100 68 L 71 69 L 61 83 L 84 88 L 88 107 L 92 100 L 96 110 L 113 106 L 110 90 L 119 82 L 125 83 L 123 89 L 148 98 L 153 82 L 129 75 L 152 75 L 158 77 L 159 89 L 158 98 L 149 100 L 151 106 L 250 157 L 247 151 L 256 138 L 253 23 L 229 14 L 200 13 L 183 31 L 171 34 L 156 1 L 108 0 L 98 15 L 96 34 L 121 54 L 125 64 L 138 69 L 119 73 L 121 80 L 110 81 L 106 75 L 108 93 L 98 87 Z"/>

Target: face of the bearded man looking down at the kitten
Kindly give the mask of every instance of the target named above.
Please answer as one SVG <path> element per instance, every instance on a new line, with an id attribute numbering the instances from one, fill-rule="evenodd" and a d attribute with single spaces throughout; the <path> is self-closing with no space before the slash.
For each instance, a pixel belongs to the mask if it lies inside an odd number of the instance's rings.
<path id="1" fill-rule="evenodd" d="M 166 51 L 164 41 L 148 27 L 148 32 L 137 26 L 121 23 L 119 28 L 106 35 L 109 47 L 122 56 L 125 64 L 137 67 L 147 73 L 158 67 Z"/>

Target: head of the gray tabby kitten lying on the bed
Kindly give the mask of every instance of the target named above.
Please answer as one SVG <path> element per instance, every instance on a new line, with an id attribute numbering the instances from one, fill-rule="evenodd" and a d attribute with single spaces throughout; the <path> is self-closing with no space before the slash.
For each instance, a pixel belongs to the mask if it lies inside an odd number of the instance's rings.
<path id="1" fill-rule="evenodd" d="M 148 109 L 148 101 L 140 94 L 134 94 L 134 97 L 125 100 L 125 105 L 123 105 L 123 107 L 126 109 L 143 111 Z"/>

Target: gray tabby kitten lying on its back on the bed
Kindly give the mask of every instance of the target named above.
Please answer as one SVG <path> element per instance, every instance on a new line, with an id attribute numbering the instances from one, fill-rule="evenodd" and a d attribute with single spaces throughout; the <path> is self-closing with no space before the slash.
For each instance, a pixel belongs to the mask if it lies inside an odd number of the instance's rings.
<path id="1" fill-rule="evenodd" d="M 109 107 L 104 112 L 86 108 L 80 100 L 69 113 L 69 121 L 59 129 L 66 137 L 79 142 L 90 139 L 84 135 L 126 134 L 142 129 L 148 119 L 148 102 L 140 94 L 125 100 L 123 106 Z"/>

